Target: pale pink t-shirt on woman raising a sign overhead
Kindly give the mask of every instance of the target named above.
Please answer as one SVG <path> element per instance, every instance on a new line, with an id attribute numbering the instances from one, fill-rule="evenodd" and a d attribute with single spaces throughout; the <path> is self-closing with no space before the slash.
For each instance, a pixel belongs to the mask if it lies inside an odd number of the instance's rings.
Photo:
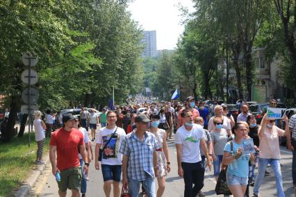
<path id="1" fill-rule="evenodd" d="M 272 126 L 272 130 L 267 128 L 261 130 L 263 136 L 260 139 L 260 158 L 264 159 L 280 159 L 281 153 L 279 151 L 279 136 L 283 136 L 284 130 L 277 126 Z"/>

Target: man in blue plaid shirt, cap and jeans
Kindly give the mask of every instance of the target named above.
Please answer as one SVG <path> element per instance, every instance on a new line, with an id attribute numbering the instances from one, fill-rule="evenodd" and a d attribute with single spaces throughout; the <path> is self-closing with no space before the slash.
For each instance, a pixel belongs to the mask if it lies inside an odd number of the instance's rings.
<path id="1" fill-rule="evenodd" d="M 122 153 L 122 184 L 129 186 L 132 197 L 138 196 L 140 183 L 148 197 L 156 196 L 154 177 L 157 173 L 156 150 L 160 148 L 153 134 L 147 131 L 149 119 L 145 114 L 135 117 L 136 129 L 124 137 Z"/>

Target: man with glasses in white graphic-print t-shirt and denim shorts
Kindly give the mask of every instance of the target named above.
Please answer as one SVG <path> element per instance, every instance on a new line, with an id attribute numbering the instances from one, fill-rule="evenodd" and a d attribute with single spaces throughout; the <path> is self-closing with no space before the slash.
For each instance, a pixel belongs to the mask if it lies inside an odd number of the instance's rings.
<path id="1" fill-rule="evenodd" d="M 112 137 L 110 142 L 106 145 L 106 148 L 102 151 L 101 171 L 104 178 L 105 195 L 110 196 L 111 185 L 113 184 L 113 196 L 119 197 L 120 179 L 122 176 L 122 154 L 119 153 L 119 150 L 126 133 L 122 128 L 116 126 L 116 121 L 116 113 L 108 111 L 108 126 L 101 128 L 97 133 L 94 166 L 99 170 L 99 149 L 104 148 L 110 137 Z"/>

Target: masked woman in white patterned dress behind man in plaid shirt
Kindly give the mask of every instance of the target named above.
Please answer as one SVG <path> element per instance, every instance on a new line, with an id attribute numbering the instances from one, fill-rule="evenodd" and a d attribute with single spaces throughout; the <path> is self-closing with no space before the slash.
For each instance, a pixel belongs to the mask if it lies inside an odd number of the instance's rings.
<path id="1" fill-rule="evenodd" d="M 158 146 L 161 147 L 156 150 L 158 168 L 157 174 L 155 175 L 158 181 L 158 189 L 156 192 L 157 197 L 161 197 L 163 195 L 163 191 L 165 191 L 165 176 L 171 170 L 169 153 L 167 150 L 167 135 L 165 130 L 158 128 L 159 119 L 160 117 L 158 114 L 152 114 L 149 128 L 149 132 L 151 132 L 155 136 Z"/>

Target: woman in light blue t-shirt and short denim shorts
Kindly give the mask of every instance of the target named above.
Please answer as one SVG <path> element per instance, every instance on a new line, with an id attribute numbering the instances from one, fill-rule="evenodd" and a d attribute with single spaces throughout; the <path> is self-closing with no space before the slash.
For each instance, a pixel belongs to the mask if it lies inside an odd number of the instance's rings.
<path id="1" fill-rule="evenodd" d="M 224 148 L 223 164 L 227 164 L 227 185 L 234 197 L 245 195 L 249 175 L 249 160 L 254 161 L 254 154 L 242 155 L 242 141 L 247 137 L 245 122 L 233 126 L 234 139 Z"/>

